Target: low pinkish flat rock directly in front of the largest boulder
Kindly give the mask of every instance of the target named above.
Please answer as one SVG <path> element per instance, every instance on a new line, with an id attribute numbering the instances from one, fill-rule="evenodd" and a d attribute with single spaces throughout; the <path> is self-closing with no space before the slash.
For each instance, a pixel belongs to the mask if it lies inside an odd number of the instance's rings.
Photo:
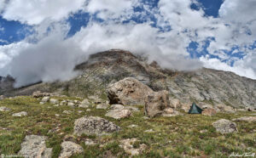
<path id="1" fill-rule="evenodd" d="M 114 119 L 119 120 L 119 119 L 131 116 L 131 110 L 125 110 L 125 109 L 109 110 L 105 116 L 112 117 Z"/>

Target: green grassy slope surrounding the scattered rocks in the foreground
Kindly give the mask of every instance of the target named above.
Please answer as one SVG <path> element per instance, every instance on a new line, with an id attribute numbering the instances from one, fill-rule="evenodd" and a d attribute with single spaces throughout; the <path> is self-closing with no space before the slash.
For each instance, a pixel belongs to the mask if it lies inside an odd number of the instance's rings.
<path id="1" fill-rule="evenodd" d="M 67 98 L 58 98 L 67 99 Z M 68 98 L 72 99 L 72 98 Z M 57 157 L 61 152 L 61 141 L 70 135 L 72 140 L 84 147 L 83 155 L 74 157 L 103 157 L 104 155 L 129 156 L 119 147 L 119 140 L 124 138 L 138 138 L 140 143 L 147 144 L 148 149 L 137 157 L 228 157 L 231 153 L 256 153 L 256 124 L 251 122 L 237 122 L 238 133 L 221 134 L 212 127 L 212 122 L 218 119 L 233 119 L 240 116 L 250 116 L 252 112 L 238 112 L 236 114 L 218 114 L 217 116 L 187 115 L 176 117 L 157 117 L 143 119 L 143 108 L 134 113 L 130 118 L 115 121 L 104 116 L 106 110 L 96 110 L 92 106 L 90 112 L 84 109 L 72 109 L 68 106 L 55 107 L 53 104 L 39 104 L 37 99 L 31 97 L 18 97 L 4 99 L 0 106 L 12 109 L 9 112 L 0 112 L 0 153 L 15 155 L 20 150 L 20 144 L 28 134 L 44 135 L 48 137 L 47 146 L 53 148 Z M 25 110 L 28 116 L 13 117 L 11 114 Z M 63 114 L 63 110 L 73 110 L 72 114 Z M 79 110 L 83 110 L 79 113 Z M 57 117 L 55 114 L 60 114 Z M 82 116 L 102 116 L 113 121 L 122 131 L 108 136 L 73 137 L 73 122 Z M 137 124 L 137 128 L 128 128 L 131 124 Z M 48 133 L 50 129 L 59 127 L 59 131 Z M 153 129 L 154 133 L 144 133 Z M 200 133 L 201 130 L 206 133 Z M 92 138 L 98 144 L 94 146 L 84 145 L 85 138 Z M 100 147 L 100 144 L 104 144 Z M 110 152 L 111 151 L 111 152 Z M 111 153 L 111 154 L 109 154 Z"/>

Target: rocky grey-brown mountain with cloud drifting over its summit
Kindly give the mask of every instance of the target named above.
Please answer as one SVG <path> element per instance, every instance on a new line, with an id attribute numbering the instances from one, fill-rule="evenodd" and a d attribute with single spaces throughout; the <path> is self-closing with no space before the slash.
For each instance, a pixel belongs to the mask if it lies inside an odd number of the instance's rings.
<path id="1" fill-rule="evenodd" d="M 156 62 L 148 64 L 146 57 L 119 49 L 92 54 L 74 71 L 80 75 L 67 82 L 37 83 L 15 89 L 14 80 L 1 79 L 0 94 L 6 96 L 30 95 L 40 90 L 69 96 L 100 95 L 106 98 L 106 87 L 125 77 L 137 78 L 154 91 L 168 90 L 171 98 L 223 103 L 234 107 L 256 107 L 256 81 L 232 72 L 202 68 L 197 71 L 161 69 Z"/>

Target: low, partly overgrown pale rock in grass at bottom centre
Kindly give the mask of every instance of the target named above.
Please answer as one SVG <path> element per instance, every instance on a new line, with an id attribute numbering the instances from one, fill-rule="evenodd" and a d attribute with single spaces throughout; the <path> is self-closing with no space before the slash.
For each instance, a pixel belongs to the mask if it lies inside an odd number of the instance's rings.
<path id="1" fill-rule="evenodd" d="M 146 150 L 147 145 L 138 144 L 138 146 L 135 146 L 137 142 L 139 142 L 137 138 L 127 138 L 120 141 L 120 147 L 123 148 L 125 153 L 129 155 L 139 155 L 143 152 L 143 150 Z"/>

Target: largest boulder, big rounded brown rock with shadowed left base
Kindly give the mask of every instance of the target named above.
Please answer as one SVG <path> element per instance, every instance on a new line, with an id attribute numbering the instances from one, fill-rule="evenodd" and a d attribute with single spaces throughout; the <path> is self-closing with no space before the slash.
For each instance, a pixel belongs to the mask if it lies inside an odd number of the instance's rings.
<path id="1" fill-rule="evenodd" d="M 153 92 L 150 87 L 131 77 L 115 82 L 107 89 L 110 104 L 125 105 L 143 105 L 145 104 L 145 97 Z"/>

